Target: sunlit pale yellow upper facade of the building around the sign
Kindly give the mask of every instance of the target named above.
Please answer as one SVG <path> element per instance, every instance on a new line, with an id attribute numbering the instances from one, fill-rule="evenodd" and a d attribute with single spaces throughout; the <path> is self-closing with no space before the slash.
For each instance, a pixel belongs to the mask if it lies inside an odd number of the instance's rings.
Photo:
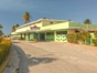
<path id="1" fill-rule="evenodd" d="M 50 30 L 50 29 L 54 30 L 54 29 L 61 29 L 61 28 L 68 28 L 68 22 L 63 22 L 58 24 L 54 22 L 54 24 L 43 27 L 44 23 L 46 24 L 48 22 L 40 22 L 40 23 L 28 25 L 28 27 L 23 27 L 23 28 L 17 29 L 17 32 L 31 30 L 30 27 L 34 27 L 34 25 L 39 27 L 40 30 Z"/>

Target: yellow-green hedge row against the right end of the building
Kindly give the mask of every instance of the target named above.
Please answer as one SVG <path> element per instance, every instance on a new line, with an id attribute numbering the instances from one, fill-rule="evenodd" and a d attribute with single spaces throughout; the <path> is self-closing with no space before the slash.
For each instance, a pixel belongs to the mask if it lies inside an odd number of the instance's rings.
<path id="1" fill-rule="evenodd" d="M 94 39 L 91 39 L 91 35 L 89 32 L 68 33 L 67 41 L 71 43 L 82 42 L 83 44 L 90 44 L 91 42 L 93 45 L 97 46 L 97 31 L 94 32 Z"/>

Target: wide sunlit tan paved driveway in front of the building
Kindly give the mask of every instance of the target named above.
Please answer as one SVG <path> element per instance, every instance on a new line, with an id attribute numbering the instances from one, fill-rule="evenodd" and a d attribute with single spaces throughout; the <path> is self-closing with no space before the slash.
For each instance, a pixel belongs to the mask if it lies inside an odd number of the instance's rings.
<path id="1" fill-rule="evenodd" d="M 14 42 L 20 73 L 97 73 L 97 48 L 55 42 Z"/>

